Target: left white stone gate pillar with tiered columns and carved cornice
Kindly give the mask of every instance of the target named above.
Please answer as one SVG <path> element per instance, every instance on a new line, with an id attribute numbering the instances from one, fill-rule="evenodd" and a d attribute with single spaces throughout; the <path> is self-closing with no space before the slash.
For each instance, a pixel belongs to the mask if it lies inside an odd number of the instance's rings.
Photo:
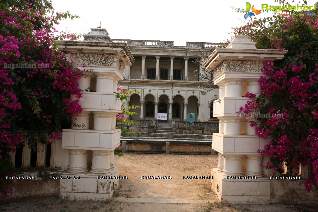
<path id="1" fill-rule="evenodd" d="M 85 77 L 78 80 L 83 111 L 74 117 L 71 129 L 63 129 L 62 148 L 69 153 L 63 175 L 71 179 L 60 181 L 61 198 L 106 199 L 118 186 L 118 180 L 99 180 L 97 176 L 119 175 L 114 149 L 120 145 L 120 130 L 115 122 L 121 101 L 115 92 L 125 67 L 135 60 L 127 44 L 113 43 L 106 29 L 91 30 L 84 35 L 84 41 L 58 41 L 75 67 L 86 66 Z"/>

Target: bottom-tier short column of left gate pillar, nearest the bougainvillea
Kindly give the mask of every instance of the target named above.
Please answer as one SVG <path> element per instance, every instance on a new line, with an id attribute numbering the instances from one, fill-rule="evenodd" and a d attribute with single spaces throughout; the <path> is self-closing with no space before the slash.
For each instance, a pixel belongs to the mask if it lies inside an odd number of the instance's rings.
<path id="1" fill-rule="evenodd" d="M 69 149 L 69 162 L 66 171 L 70 173 L 82 173 L 88 171 L 87 150 Z"/>

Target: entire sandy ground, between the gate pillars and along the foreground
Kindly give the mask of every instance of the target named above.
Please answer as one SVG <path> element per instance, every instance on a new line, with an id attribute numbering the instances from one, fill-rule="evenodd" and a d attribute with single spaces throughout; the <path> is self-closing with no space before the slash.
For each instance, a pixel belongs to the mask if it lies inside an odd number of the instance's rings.
<path id="1" fill-rule="evenodd" d="M 111 200 L 69 201 L 58 197 L 29 197 L 2 202 L 0 211 L 301 211 L 281 204 L 233 207 L 217 201 L 211 192 L 211 180 L 182 180 L 182 176 L 211 175 L 211 168 L 217 167 L 217 162 L 216 155 L 115 156 L 115 164 L 120 166 L 120 175 L 127 175 L 128 180 L 120 180 L 119 189 Z M 171 180 L 141 179 L 141 176 L 149 175 L 171 176 Z"/>

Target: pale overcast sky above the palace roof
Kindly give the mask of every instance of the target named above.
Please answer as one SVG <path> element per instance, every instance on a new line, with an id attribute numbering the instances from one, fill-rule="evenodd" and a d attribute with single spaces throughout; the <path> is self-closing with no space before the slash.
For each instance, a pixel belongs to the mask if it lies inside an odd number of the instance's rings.
<path id="1" fill-rule="evenodd" d="M 308 0 L 308 5 L 315 1 Z M 175 46 L 191 42 L 222 42 L 230 39 L 232 27 L 244 24 L 244 14 L 231 7 L 246 8 L 246 0 L 52 0 L 55 11 L 70 11 L 81 16 L 61 21 L 58 30 L 86 34 L 90 28 L 106 28 L 112 39 L 167 40 Z M 278 5 L 273 0 L 249 1 L 260 10 L 261 4 Z M 295 5 L 299 0 L 288 1 Z M 303 0 L 300 3 L 302 4 Z M 257 18 L 269 16 L 261 13 Z M 249 19 L 248 19 L 249 20 Z"/>

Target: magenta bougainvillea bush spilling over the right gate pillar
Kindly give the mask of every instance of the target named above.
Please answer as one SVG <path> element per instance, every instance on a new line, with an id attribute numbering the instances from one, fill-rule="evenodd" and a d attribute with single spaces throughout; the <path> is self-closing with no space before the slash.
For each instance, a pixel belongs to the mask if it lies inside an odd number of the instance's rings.
<path id="1" fill-rule="evenodd" d="M 270 156 L 263 166 L 282 174 L 286 165 L 287 174 L 297 174 L 299 163 L 307 164 L 305 187 L 309 192 L 318 189 L 318 18 L 308 13 L 317 11 L 274 13 L 273 17 L 250 19 L 234 30 L 248 35 L 258 48 L 288 50 L 282 60 L 264 62 L 260 95 L 255 99 L 247 94 L 252 100 L 238 113 L 271 114 L 251 122 L 256 134 L 269 140 L 264 150 L 258 150 Z"/>

